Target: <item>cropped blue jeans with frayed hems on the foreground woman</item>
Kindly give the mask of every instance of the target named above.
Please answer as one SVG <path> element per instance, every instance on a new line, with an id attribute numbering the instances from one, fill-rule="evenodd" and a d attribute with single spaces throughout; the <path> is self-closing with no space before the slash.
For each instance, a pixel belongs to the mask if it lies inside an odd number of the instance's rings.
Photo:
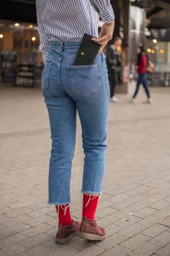
<path id="1" fill-rule="evenodd" d="M 101 194 L 107 148 L 109 80 L 104 53 L 93 65 L 73 66 L 80 42 L 51 41 L 42 72 L 42 95 L 50 120 L 52 148 L 49 200 L 70 203 L 70 178 L 77 113 L 82 127 L 84 170 L 82 193 Z"/>

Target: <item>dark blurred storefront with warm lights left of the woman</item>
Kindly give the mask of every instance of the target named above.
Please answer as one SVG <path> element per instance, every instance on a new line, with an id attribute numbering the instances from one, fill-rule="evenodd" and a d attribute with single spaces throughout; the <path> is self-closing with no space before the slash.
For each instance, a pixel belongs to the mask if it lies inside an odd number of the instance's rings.
<path id="1" fill-rule="evenodd" d="M 1 83 L 39 84 L 43 62 L 36 24 L 0 20 Z"/>

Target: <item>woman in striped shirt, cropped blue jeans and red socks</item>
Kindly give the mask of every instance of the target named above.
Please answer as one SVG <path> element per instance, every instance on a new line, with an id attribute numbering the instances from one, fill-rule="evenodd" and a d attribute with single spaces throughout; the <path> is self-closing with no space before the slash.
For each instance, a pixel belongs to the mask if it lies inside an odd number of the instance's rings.
<path id="1" fill-rule="evenodd" d="M 36 0 L 36 10 L 45 61 L 42 95 L 52 139 L 47 203 L 55 205 L 58 212 L 55 241 L 65 244 L 78 231 L 82 238 L 103 240 L 104 228 L 95 220 L 104 178 L 109 107 L 109 80 L 102 50 L 112 39 L 114 12 L 109 0 Z M 98 37 L 99 17 L 104 25 Z M 101 48 L 93 65 L 73 66 L 84 33 L 92 35 Z M 85 153 L 81 223 L 72 219 L 69 207 L 77 112 Z"/>

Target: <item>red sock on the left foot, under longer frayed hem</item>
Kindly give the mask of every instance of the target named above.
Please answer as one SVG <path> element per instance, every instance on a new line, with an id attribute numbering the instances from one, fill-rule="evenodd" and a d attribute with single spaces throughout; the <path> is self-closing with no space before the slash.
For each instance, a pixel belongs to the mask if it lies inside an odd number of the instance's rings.
<path id="1" fill-rule="evenodd" d="M 58 213 L 58 222 L 63 226 L 69 225 L 72 223 L 72 217 L 70 214 L 69 203 L 64 206 L 55 206 Z M 59 208 L 59 209 L 58 209 Z"/>

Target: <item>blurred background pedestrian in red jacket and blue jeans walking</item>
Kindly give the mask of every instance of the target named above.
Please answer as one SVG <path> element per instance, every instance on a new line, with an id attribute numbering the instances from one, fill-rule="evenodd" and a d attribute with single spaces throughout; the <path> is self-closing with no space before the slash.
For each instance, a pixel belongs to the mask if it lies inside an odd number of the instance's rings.
<path id="1" fill-rule="evenodd" d="M 145 101 L 144 103 L 152 103 L 152 99 L 150 98 L 150 90 L 147 86 L 147 64 L 148 64 L 147 54 L 145 53 L 144 48 L 142 46 L 139 46 L 137 48 L 137 63 L 136 63 L 136 70 L 139 74 L 139 78 L 137 81 L 134 96 L 132 98 L 132 102 L 134 102 L 134 99 L 136 98 L 136 95 L 139 92 L 139 87 L 142 83 L 144 87 L 144 91 L 147 94 L 147 101 Z"/>

